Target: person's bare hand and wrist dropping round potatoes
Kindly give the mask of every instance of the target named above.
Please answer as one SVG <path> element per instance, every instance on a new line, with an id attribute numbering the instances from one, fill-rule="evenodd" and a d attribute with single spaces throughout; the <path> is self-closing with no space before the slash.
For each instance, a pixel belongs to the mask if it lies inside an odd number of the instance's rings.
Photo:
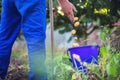
<path id="1" fill-rule="evenodd" d="M 75 6 L 69 2 L 68 0 L 58 0 L 59 4 L 62 7 L 63 12 L 65 15 L 70 19 L 70 21 L 74 21 L 74 14 L 73 11 L 76 11 Z"/>

